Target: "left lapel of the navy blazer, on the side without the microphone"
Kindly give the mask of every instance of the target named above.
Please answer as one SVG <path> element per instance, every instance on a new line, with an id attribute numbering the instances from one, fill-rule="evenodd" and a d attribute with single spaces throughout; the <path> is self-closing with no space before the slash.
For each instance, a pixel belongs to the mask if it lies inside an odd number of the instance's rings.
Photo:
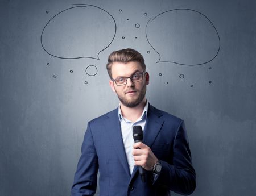
<path id="1" fill-rule="evenodd" d="M 110 141 L 112 141 L 112 144 L 115 148 L 115 152 L 117 153 L 119 160 L 123 165 L 123 168 L 125 169 L 125 172 L 130 176 L 130 170 L 126 158 L 125 148 L 123 147 L 121 126 L 118 119 L 118 109 L 109 112 L 107 116 L 108 119 L 104 122 L 106 130 L 108 131 L 107 135 L 109 136 Z"/>

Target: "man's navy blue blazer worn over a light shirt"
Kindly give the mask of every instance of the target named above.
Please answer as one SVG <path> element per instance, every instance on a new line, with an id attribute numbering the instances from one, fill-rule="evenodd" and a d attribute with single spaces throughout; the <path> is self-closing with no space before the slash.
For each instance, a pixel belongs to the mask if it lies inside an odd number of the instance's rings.
<path id="1" fill-rule="evenodd" d="M 138 167 L 129 172 L 118 119 L 118 109 L 88 123 L 77 164 L 72 196 L 94 195 L 100 173 L 101 196 L 164 196 L 170 190 L 188 195 L 195 190 L 196 174 L 183 120 L 149 105 L 143 143 L 162 164 L 156 179 L 152 172 L 141 181 Z"/>

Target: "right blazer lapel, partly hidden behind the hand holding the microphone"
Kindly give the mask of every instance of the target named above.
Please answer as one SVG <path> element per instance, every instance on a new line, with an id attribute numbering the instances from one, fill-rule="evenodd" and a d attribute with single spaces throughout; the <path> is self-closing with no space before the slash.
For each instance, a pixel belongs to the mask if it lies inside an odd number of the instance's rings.
<path id="1" fill-rule="evenodd" d="M 143 130 L 143 143 L 151 148 L 155 141 L 156 136 L 163 125 L 164 120 L 159 118 L 162 116 L 162 112 L 155 107 L 148 106 L 147 121 Z M 135 176 L 138 171 L 138 166 L 134 166 L 133 173 L 131 174 L 131 179 Z"/>

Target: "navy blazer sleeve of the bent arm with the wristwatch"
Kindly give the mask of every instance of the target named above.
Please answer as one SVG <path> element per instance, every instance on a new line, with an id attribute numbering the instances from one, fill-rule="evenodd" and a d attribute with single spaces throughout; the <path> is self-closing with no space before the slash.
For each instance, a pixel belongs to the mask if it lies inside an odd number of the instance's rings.
<path id="1" fill-rule="evenodd" d="M 177 129 L 173 145 L 172 163 L 160 160 L 162 169 L 153 182 L 182 195 L 191 194 L 196 188 L 196 173 L 192 166 L 187 132 L 184 122 Z"/>

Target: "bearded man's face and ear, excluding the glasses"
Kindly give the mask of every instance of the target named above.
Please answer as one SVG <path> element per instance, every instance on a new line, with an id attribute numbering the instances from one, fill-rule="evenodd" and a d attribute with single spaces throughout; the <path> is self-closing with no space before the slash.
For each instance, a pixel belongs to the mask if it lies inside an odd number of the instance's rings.
<path id="1" fill-rule="evenodd" d="M 127 62 L 126 64 L 113 62 L 111 69 L 113 79 L 130 77 L 143 72 L 141 65 L 136 61 Z M 143 75 L 142 81 L 139 82 L 132 82 L 131 79 L 128 78 L 126 85 L 118 86 L 114 81 L 109 81 L 110 87 L 117 93 L 119 100 L 126 107 L 136 107 L 145 99 L 146 85 L 148 85 L 148 83 L 149 75 L 147 72 Z"/>

